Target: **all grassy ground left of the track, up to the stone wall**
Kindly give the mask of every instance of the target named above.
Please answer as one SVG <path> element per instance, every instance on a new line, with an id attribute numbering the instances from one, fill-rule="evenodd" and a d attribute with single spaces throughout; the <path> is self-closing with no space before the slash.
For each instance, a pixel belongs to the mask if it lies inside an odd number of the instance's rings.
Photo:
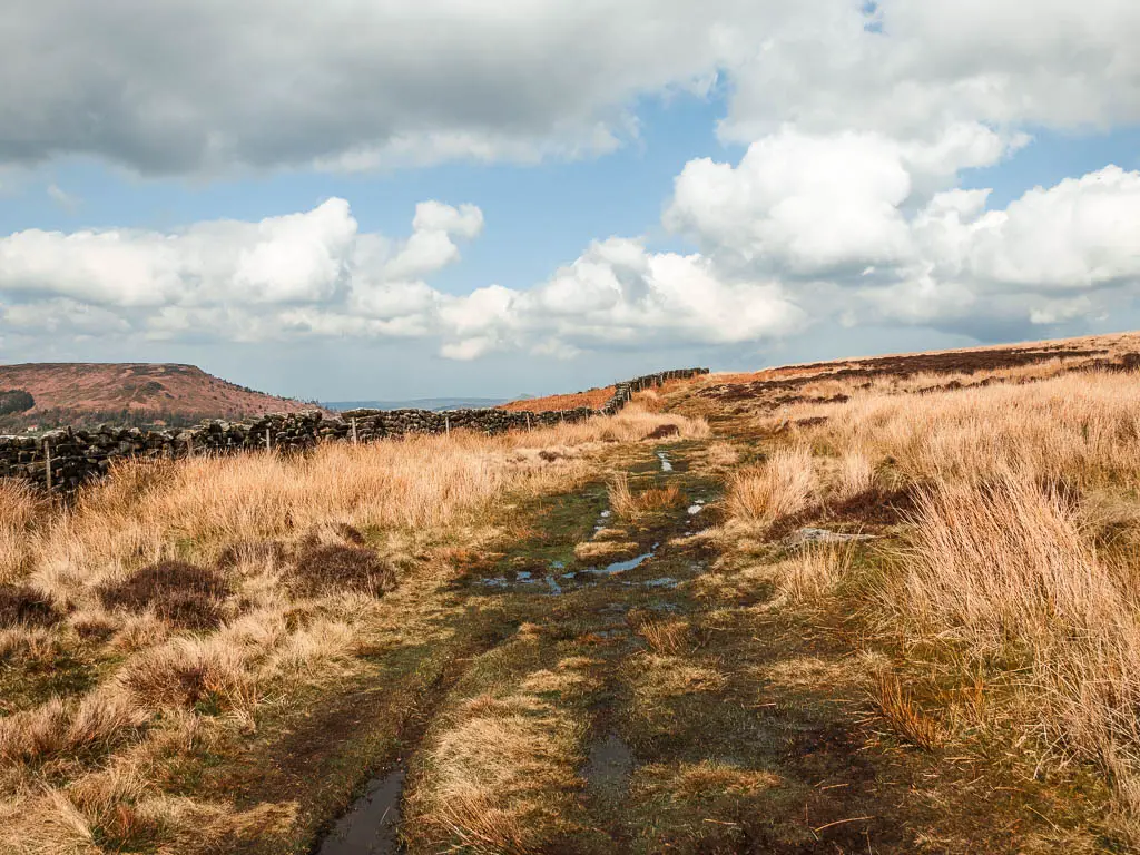
<path id="1" fill-rule="evenodd" d="M 707 430 L 634 407 L 127 465 L 73 507 L 0 484 L 0 849 L 304 850 L 450 659 L 494 641 L 450 556 L 667 424 Z"/>

